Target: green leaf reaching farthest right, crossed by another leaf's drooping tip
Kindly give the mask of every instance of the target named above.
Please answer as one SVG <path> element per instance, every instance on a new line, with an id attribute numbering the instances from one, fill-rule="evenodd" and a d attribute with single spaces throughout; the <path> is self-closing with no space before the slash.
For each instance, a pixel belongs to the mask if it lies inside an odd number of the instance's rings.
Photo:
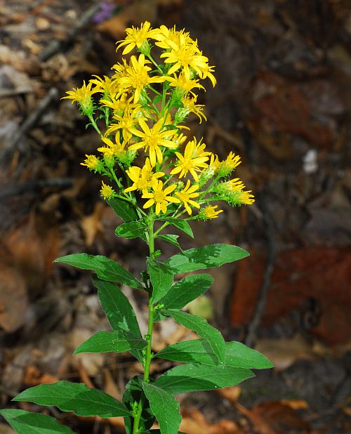
<path id="1" fill-rule="evenodd" d="M 213 353 L 211 346 L 204 339 L 174 343 L 161 350 L 154 357 L 173 360 L 173 362 L 199 363 L 210 366 L 218 364 L 216 354 Z M 272 362 L 263 354 L 236 341 L 225 343 L 225 366 L 247 369 L 274 367 Z"/>

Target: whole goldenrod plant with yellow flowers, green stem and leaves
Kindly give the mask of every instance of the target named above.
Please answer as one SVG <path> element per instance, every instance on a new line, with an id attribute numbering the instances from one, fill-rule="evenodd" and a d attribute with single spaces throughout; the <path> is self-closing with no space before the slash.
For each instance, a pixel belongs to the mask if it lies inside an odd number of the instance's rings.
<path id="1" fill-rule="evenodd" d="M 214 67 L 185 30 L 149 22 L 126 29 L 117 43 L 121 63 L 111 77 L 94 76 L 88 84 L 68 91 L 65 98 L 77 103 L 101 138 L 96 154 L 83 164 L 104 178 L 101 195 L 124 221 L 118 237 L 140 237 L 150 251 L 140 279 L 105 256 L 85 253 L 56 259 L 82 270 L 91 270 L 98 297 L 112 331 L 98 331 L 75 350 L 78 353 L 123 353 L 140 362 L 143 374 L 126 384 L 121 402 L 83 383 L 58 381 L 29 388 L 15 401 L 58 407 L 78 416 L 124 416 L 126 433 L 176 434 L 180 427 L 179 393 L 234 386 L 254 376 L 251 369 L 271 368 L 272 363 L 244 344 L 225 342 L 220 331 L 199 316 L 183 310 L 213 283 L 207 273 L 184 273 L 218 267 L 249 256 L 238 246 L 211 244 L 183 250 L 172 228 L 193 237 L 190 221 L 209 221 L 223 212 L 218 203 L 251 205 L 251 190 L 231 178 L 240 157 L 230 152 L 220 161 L 203 140 L 185 135 L 184 122 L 195 114 L 206 121 L 197 93 L 206 81 L 213 86 Z M 103 125 L 103 127 L 102 127 Z M 159 240 L 173 244 L 179 253 L 161 260 Z M 156 246 L 155 246 L 156 244 Z M 145 291 L 148 297 L 148 331 L 142 336 L 131 303 L 118 284 Z M 173 318 L 199 338 L 181 341 L 158 353 L 152 351 L 155 322 Z M 157 378 L 150 376 L 152 360 L 176 362 Z M 5 409 L 2 416 L 18 433 L 72 433 L 45 414 Z M 159 428 L 152 428 L 157 422 Z"/>

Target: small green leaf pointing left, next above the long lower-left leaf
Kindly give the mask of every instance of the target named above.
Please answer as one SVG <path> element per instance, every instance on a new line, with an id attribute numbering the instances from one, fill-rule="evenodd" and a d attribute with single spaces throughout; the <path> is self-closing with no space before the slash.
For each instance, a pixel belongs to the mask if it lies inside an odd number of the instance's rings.
<path id="1" fill-rule="evenodd" d="M 130 331 L 98 331 L 82 343 L 74 354 L 79 353 L 124 353 L 129 350 L 142 350 L 147 342 Z"/>

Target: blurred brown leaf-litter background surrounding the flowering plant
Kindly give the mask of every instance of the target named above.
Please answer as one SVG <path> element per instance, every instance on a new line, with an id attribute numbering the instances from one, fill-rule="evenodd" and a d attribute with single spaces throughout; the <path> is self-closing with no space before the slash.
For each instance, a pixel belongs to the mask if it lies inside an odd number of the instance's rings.
<path id="1" fill-rule="evenodd" d="M 52 261 L 86 251 L 144 268 L 147 249 L 114 236 L 100 178 L 79 165 L 100 140 L 60 100 L 109 74 L 115 42 L 144 20 L 185 27 L 216 65 L 218 85 L 199 101 L 208 122 L 188 125 L 220 157 L 241 155 L 237 176 L 256 194 L 194 223 L 195 246 L 237 244 L 251 257 L 211 270 L 213 287 L 190 310 L 276 365 L 240 387 L 181 395 L 181 429 L 351 433 L 350 0 L 0 0 L 0 407 L 58 379 L 120 398 L 140 371 L 128 354 L 72 357 L 107 321 L 89 273 Z M 124 292 L 145 330 L 143 295 Z M 191 336 L 165 322 L 154 350 Z M 170 365 L 155 362 L 153 374 Z M 77 433 L 124 433 L 119 418 L 18 405 Z"/>

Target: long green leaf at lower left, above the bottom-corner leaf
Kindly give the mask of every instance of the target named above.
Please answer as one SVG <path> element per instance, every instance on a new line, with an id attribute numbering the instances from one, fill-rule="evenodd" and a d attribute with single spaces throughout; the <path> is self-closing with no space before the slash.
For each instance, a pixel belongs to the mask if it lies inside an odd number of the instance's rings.
<path id="1" fill-rule="evenodd" d="M 84 383 L 69 381 L 40 384 L 20 393 L 13 401 L 55 405 L 62 412 L 74 412 L 77 416 L 114 417 L 130 414 L 121 402 L 102 390 L 88 388 Z"/>

